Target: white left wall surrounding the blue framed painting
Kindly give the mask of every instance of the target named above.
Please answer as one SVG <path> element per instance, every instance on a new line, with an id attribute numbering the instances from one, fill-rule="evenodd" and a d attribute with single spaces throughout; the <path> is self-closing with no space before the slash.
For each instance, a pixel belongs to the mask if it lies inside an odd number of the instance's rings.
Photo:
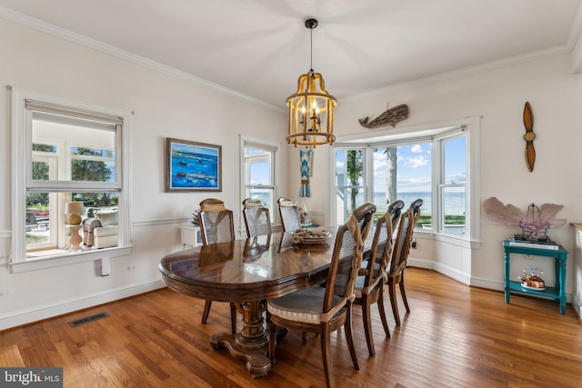
<path id="1" fill-rule="evenodd" d="M 146 66 L 0 20 L 0 330 L 161 286 L 159 260 L 182 248 L 179 224 L 215 196 L 240 215 L 239 136 L 278 143 L 285 111 L 268 109 Z M 5 85 L 133 111 L 133 254 L 97 263 L 11 274 L 11 92 Z M 284 108 L 284 106 L 282 106 Z M 223 150 L 221 193 L 165 193 L 166 137 Z M 286 144 L 281 147 L 287 158 Z M 286 182 L 282 192 L 286 193 Z"/>

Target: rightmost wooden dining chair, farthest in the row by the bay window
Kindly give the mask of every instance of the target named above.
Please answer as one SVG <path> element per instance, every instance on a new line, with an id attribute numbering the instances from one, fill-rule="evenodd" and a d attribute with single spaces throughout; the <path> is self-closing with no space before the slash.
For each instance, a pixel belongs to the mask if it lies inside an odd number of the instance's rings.
<path id="1" fill-rule="evenodd" d="M 398 304 L 396 303 L 396 284 L 400 288 L 400 296 L 406 307 L 406 313 L 410 313 L 410 307 L 406 300 L 406 292 L 404 285 L 404 270 L 408 264 L 408 254 L 410 253 L 410 246 L 412 245 L 412 237 L 415 230 L 416 218 L 414 216 L 414 208 L 408 208 L 400 217 L 400 224 L 398 224 L 398 234 L 396 234 L 396 242 L 392 251 L 392 260 L 390 267 L 386 273 L 386 284 L 388 284 L 388 294 L 390 295 L 390 304 L 392 305 L 392 313 L 396 325 L 400 325 L 400 315 L 398 314 Z"/>

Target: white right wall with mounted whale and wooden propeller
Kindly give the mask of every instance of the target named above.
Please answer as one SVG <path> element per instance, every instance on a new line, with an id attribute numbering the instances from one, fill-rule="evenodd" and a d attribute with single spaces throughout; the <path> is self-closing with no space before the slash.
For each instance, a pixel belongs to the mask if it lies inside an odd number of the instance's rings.
<path id="1" fill-rule="evenodd" d="M 333 85 L 328 85 L 333 94 Z M 529 173 L 525 162 L 523 134 L 524 104 L 529 102 L 534 113 L 534 142 L 537 160 Z M 582 220 L 582 128 L 579 120 L 582 106 L 582 75 L 572 74 L 570 55 L 560 55 L 520 65 L 489 70 L 475 75 L 448 80 L 426 80 L 410 85 L 377 91 L 349 100 L 339 100 L 334 132 L 338 135 L 368 134 L 358 123 L 365 116 L 376 117 L 386 110 L 407 104 L 409 116 L 397 128 L 441 123 L 463 117 L 481 117 L 479 151 L 480 199 L 491 196 L 504 204 L 515 204 L 526 210 L 528 204 L 563 204 L 558 217 L 568 223 Z M 378 130 L 389 133 L 391 127 Z M 316 159 L 328 158 L 330 150 L 317 148 Z M 329 168 L 320 166 L 312 180 L 310 209 L 326 209 L 329 193 Z M 292 172 L 297 174 L 296 172 Z M 295 178 L 298 179 L 298 178 Z M 411 252 L 411 262 L 435 268 L 467 284 L 503 289 L 503 249 L 501 242 L 519 232 L 515 228 L 482 220 L 481 244 L 472 248 L 455 247 L 447 242 L 421 238 Z M 550 237 L 564 245 L 570 253 L 567 262 L 568 300 L 573 290 L 574 232 L 569 225 L 551 229 Z M 424 236 L 430 237 L 430 236 Z M 429 246 L 425 246 L 429 244 Z M 551 260 L 535 258 L 553 282 Z M 531 265 L 519 257 L 512 259 L 512 268 Z"/>

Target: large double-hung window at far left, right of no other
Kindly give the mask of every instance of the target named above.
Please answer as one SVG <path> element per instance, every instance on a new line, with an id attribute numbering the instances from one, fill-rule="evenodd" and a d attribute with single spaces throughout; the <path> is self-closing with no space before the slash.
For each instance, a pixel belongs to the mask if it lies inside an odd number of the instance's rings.
<path id="1" fill-rule="evenodd" d="M 13 93 L 13 267 L 26 268 L 20 264 L 39 259 L 62 264 L 57 259 L 79 254 L 95 259 L 90 256 L 99 249 L 96 244 L 69 251 L 72 231 L 83 234 L 82 227 L 69 225 L 65 204 L 70 202 L 83 203 L 82 220 L 95 211 L 103 214 L 107 248 L 129 246 L 123 157 L 129 114 L 23 90 Z"/>

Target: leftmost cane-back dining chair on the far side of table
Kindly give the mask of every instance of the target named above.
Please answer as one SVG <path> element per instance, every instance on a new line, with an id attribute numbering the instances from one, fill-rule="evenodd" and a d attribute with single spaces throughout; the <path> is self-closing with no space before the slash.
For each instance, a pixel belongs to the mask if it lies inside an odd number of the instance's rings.
<path id="1" fill-rule="evenodd" d="M 202 244 L 217 244 L 235 240 L 235 223 L 233 212 L 226 209 L 225 203 L 216 198 L 207 198 L 200 203 L 200 232 Z M 212 301 L 206 299 L 202 323 L 206 324 Z M 236 304 L 230 303 L 230 326 L 236 333 Z"/>

